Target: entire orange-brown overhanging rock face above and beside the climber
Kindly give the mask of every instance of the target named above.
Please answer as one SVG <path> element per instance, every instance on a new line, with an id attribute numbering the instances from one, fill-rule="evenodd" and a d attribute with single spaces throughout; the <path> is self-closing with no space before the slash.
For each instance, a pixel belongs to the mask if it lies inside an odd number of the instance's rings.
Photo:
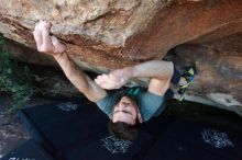
<path id="1" fill-rule="evenodd" d="M 10 39 L 35 48 L 32 31 L 41 19 L 53 23 L 80 67 L 102 72 L 166 56 L 178 68 L 196 66 L 188 100 L 242 114 L 241 0 L 1 1 L 0 33 Z M 14 53 L 52 64 L 33 50 Z"/>

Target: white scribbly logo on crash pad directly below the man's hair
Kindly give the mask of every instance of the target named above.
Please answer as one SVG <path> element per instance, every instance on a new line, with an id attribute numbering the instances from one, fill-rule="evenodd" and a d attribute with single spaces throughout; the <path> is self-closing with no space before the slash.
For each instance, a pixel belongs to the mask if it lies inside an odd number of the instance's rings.
<path id="1" fill-rule="evenodd" d="M 125 153 L 129 151 L 132 142 L 130 140 L 117 139 L 113 136 L 101 139 L 103 147 L 106 147 L 111 153 Z"/>

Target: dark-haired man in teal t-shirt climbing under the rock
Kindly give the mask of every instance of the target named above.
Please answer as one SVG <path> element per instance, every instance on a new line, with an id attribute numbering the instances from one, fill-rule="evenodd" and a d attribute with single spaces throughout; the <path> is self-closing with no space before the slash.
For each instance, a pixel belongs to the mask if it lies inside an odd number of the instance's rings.
<path id="1" fill-rule="evenodd" d="M 134 139 L 139 124 L 160 115 L 164 99 L 175 95 L 183 100 L 186 88 L 194 80 L 193 68 L 180 77 L 172 61 L 150 60 L 103 73 L 92 81 L 68 57 L 66 46 L 50 35 L 50 30 L 51 23 L 40 21 L 36 24 L 33 35 L 37 50 L 52 55 L 70 82 L 110 117 L 109 130 L 117 138 Z M 147 89 L 132 88 L 112 94 L 106 91 L 120 89 L 130 79 L 141 77 L 151 79 Z M 178 93 L 168 89 L 170 81 L 179 87 Z"/>

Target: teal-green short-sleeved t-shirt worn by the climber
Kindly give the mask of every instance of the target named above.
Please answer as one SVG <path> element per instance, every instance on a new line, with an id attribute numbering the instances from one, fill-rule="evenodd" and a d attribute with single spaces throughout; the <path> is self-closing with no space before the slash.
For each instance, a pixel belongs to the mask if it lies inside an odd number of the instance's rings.
<path id="1" fill-rule="evenodd" d="M 118 104 L 121 98 L 127 94 L 134 96 L 143 122 L 148 121 L 153 116 L 158 116 L 164 111 L 165 106 L 162 105 L 164 98 L 145 91 L 143 88 L 133 88 L 112 94 L 108 93 L 103 99 L 97 102 L 97 105 L 109 116 L 109 118 L 112 118 L 116 104 Z"/>

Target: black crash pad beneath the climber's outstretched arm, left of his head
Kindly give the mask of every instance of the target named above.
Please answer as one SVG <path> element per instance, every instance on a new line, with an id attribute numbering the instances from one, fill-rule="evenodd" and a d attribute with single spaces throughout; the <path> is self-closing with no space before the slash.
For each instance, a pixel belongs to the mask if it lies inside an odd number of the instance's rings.
<path id="1" fill-rule="evenodd" d="M 19 116 L 32 138 L 50 152 L 65 152 L 107 129 L 108 118 L 95 103 L 68 100 L 24 108 Z"/>

